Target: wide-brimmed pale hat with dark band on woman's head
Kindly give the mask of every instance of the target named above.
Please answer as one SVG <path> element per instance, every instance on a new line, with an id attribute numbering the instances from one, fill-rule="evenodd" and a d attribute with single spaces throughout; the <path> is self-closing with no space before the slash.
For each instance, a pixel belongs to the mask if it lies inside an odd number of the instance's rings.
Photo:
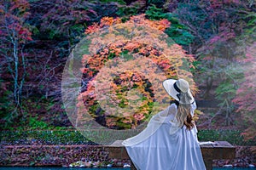
<path id="1" fill-rule="evenodd" d="M 180 104 L 192 104 L 195 100 L 190 92 L 189 82 L 184 79 L 166 79 L 163 82 L 163 87 L 166 89 L 167 94 Z"/>

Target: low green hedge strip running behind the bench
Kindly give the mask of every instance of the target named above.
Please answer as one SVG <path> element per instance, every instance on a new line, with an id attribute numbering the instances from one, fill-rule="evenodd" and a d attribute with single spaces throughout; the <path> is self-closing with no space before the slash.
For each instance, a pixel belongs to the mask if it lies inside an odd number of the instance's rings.
<path id="1" fill-rule="evenodd" d="M 83 132 L 90 133 L 91 132 Z M 113 139 L 108 131 L 96 133 L 102 140 Z M 131 133 L 130 133 L 131 135 Z M 135 134 L 132 134 L 135 135 Z M 115 139 L 126 139 L 129 135 L 117 131 Z M 91 144 L 93 141 L 87 139 L 77 130 L 11 130 L 0 133 L 0 144 Z M 198 133 L 200 141 L 228 141 L 233 145 L 254 145 L 255 141 L 245 141 L 238 130 L 200 130 Z"/>

